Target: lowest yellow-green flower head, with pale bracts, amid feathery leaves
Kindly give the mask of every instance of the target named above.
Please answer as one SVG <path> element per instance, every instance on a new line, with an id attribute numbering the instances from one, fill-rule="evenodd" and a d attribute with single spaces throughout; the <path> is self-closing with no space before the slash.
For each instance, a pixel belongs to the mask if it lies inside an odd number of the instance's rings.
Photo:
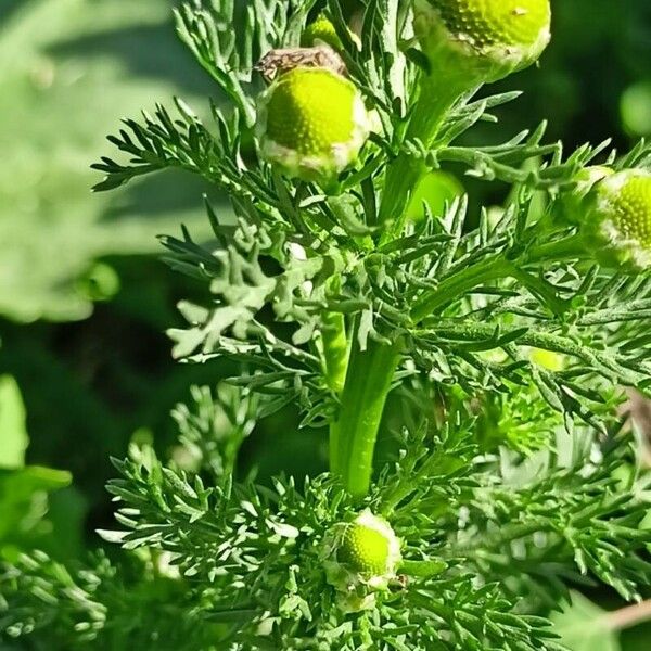
<path id="1" fill-rule="evenodd" d="M 323 541 L 323 561 L 342 608 L 363 610 L 374 604 L 375 592 L 386 590 L 397 577 L 400 540 L 386 520 L 366 510 L 353 522 L 332 527 Z"/>

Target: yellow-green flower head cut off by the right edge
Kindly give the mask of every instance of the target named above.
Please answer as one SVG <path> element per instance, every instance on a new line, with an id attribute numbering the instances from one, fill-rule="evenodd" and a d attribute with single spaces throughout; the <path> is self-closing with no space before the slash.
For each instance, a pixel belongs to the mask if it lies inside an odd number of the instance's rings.
<path id="1" fill-rule="evenodd" d="M 607 176 L 584 205 L 582 232 L 602 265 L 651 269 L 651 171 L 626 169 Z"/>

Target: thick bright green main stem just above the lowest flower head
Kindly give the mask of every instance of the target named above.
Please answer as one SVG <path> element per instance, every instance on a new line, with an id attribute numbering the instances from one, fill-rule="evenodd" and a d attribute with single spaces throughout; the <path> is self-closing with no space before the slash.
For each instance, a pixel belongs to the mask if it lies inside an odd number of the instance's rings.
<path id="1" fill-rule="evenodd" d="M 378 342 L 363 352 L 355 342 L 350 354 L 339 421 L 330 430 L 331 471 L 358 498 L 371 483 L 378 430 L 399 357 L 398 344 Z"/>

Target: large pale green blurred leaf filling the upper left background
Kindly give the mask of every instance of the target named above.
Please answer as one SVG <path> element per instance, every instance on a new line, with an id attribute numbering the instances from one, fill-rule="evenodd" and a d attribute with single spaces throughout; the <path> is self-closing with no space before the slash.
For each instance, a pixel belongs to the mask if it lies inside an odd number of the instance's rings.
<path id="1" fill-rule="evenodd" d="M 177 42 L 171 0 L 0 0 L 0 315 L 74 320 L 119 283 L 97 259 L 207 234 L 205 187 L 178 175 L 92 194 L 119 116 L 210 87 Z M 201 99 L 200 99 L 201 98 Z M 138 207 L 135 207 L 138 206 Z"/>

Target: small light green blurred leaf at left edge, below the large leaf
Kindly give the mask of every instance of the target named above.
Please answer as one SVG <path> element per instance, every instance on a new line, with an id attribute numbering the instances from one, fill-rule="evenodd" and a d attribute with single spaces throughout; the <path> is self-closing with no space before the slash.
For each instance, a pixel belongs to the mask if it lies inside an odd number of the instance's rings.
<path id="1" fill-rule="evenodd" d="M 11 375 L 0 375 L 0 468 L 23 468 L 28 443 L 18 385 Z"/>

